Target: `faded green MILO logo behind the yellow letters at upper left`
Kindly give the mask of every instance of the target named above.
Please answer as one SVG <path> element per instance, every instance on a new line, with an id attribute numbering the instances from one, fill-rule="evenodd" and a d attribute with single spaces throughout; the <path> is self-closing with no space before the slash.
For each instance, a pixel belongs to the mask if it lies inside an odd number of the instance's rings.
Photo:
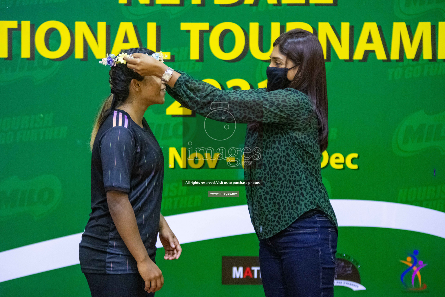
<path id="1" fill-rule="evenodd" d="M 57 42 L 49 39 L 51 48 L 57 49 Z M 0 84 L 9 84 L 23 77 L 32 77 L 35 84 L 53 76 L 61 63 L 36 55 L 34 60 L 20 58 L 20 41 L 12 41 L 12 60 L 4 61 L 0 70 Z"/>

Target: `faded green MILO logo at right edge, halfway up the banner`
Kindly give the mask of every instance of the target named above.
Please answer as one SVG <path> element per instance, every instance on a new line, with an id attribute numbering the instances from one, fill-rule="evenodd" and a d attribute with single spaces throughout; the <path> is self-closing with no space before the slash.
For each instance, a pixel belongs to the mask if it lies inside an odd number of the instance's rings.
<path id="1" fill-rule="evenodd" d="M 392 137 L 392 150 L 400 156 L 437 147 L 445 154 L 445 111 L 429 115 L 424 110 L 405 118 Z"/>

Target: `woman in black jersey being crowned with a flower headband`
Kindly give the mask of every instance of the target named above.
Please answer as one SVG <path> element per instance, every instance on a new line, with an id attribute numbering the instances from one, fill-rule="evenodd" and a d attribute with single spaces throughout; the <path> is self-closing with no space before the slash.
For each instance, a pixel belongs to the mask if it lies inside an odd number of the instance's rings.
<path id="1" fill-rule="evenodd" d="M 156 56 L 144 48 L 125 52 Z M 150 105 L 164 103 L 166 86 L 127 68 L 122 54 L 108 58 L 111 95 L 91 134 L 92 212 L 79 258 L 92 297 L 153 296 L 161 289 L 164 278 L 154 259 L 158 233 L 164 259 L 182 252 L 161 214 L 164 157 L 144 118 Z"/>

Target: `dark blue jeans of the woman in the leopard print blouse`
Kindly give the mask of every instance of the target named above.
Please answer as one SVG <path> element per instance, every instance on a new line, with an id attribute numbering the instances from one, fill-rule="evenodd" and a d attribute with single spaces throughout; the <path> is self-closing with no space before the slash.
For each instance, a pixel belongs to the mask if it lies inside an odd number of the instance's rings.
<path id="1" fill-rule="evenodd" d="M 337 237 L 336 227 L 319 211 L 260 239 L 266 297 L 333 297 Z"/>

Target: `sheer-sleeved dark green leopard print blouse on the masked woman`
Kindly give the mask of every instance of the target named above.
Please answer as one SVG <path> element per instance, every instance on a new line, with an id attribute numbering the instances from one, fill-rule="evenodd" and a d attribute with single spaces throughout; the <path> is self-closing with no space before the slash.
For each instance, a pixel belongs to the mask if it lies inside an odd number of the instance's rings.
<path id="1" fill-rule="evenodd" d="M 244 146 L 259 148 L 261 158 L 244 167 L 245 179 L 262 180 L 246 187 L 247 206 L 260 239 L 287 228 L 304 212 L 320 209 L 338 228 L 321 178 L 317 118 L 308 96 L 287 88 L 219 90 L 178 71 L 167 92 L 178 102 L 206 117 L 211 102 L 228 102 L 237 123 L 248 123 Z M 220 120 L 218 113 L 211 114 Z M 245 160 L 249 155 L 244 156 Z"/>

